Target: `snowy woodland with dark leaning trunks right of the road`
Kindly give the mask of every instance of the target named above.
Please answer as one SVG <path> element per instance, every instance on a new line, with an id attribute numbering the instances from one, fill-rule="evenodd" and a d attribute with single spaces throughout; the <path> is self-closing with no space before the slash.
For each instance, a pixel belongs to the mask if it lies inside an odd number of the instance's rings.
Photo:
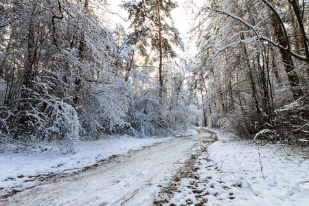
<path id="1" fill-rule="evenodd" d="M 206 4 L 191 81 L 206 124 L 308 146 L 308 1 Z"/>

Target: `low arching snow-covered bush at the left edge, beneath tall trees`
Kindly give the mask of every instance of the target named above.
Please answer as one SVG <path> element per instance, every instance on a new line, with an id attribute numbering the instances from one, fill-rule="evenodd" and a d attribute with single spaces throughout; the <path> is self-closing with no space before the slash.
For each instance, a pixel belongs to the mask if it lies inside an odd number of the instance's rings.
<path id="1" fill-rule="evenodd" d="M 0 109 L 1 141 L 62 142 L 79 140 L 80 123 L 75 108 L 58 99 L 30 96 Z"/>

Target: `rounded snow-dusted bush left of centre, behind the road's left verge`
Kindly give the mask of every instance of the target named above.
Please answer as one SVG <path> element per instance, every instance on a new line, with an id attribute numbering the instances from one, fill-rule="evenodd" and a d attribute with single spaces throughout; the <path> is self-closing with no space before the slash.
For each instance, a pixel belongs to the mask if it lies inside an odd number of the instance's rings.
<path id="1" fill-rule="evenodd" d="M 102 133 L 119 133 L 128 126 L 130 89 L 120 78 L 97 84 L 80 108 L 82 135 L 98 139 Z"/>

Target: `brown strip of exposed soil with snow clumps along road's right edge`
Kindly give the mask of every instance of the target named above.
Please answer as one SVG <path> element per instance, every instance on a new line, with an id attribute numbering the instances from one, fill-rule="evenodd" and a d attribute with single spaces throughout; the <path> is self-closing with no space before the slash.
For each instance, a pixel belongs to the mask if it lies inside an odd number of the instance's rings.
<path id="1" fill-rule="evenodd" d="M 203 128 L 203 131 L 199 132 L 210 133 L 214 141 L 218 139 L 217 134 L 210 130 Z M 207 139 L 200 139 L 199 141 L 201 149 L 196 151 L 185 163 L 183 168 L 172 177 L 168 185 L 162 188 L 161 192 L 155 198 L 152 204 L 153 206 L 175 206 L 171 201 L 174 196 L 181 196 L 183 200 L 182 205 L 201 206 L 207 203 L 208 196 L 218 196 L 217 188 L 211 185 L 212 176 L 204 175 L 201 177 L 198 174 L 202 167 L 204 170 L 221 172 L 218 165 L 209 159 L 207 152 L 207 146 L 213 141 L 207 141 Z M 234 198 L 233 192 L 231 192 L 230 188 L 223 181 L 220 181 L 220 188 L 229 193 L 229 199 L 232 200 Z"/>

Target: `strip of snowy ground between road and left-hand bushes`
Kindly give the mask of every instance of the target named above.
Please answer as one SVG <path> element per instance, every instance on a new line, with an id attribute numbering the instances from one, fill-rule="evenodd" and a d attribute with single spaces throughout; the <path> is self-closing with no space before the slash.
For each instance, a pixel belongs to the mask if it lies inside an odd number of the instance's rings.
<path id="1" fill-rule="evenodd" d="M 194 134 L 197 134 L 197 131 L 190 129 L 178 136 Z M 68 152 L 67 148 L 56 145 L 43 144 L 19 153 L 0 150 L 0 196 L 10 194 L 14 189 L 32 187 L 36 184 L 36 176 L 77 172 L 108 157 L 171 139 L 174 137 L 137 139 L 122 136 L 98 141 L 80 141 L 74 146 L 74 152 Z"/>

